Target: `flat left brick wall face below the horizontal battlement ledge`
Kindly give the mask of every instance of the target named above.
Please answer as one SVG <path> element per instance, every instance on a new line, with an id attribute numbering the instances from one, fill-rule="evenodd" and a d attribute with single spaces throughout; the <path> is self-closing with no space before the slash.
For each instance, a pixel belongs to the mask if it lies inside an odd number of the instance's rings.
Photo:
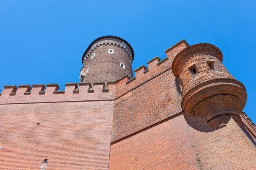
<path id="1" fill-rule="evenodd" d="M 0 169 L 107 170 L 112 114 L 113 101 L 0 105 Z"/>

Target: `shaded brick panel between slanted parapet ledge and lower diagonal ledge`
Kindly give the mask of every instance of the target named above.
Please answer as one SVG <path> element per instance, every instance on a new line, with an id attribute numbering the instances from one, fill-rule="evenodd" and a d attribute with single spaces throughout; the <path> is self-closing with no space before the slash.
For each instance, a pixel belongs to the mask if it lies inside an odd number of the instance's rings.
<path id="1" fill-rule="evenodd" d="M 166 71 L 115 100 L 112 140 L 182 111 L 171 73 Z"/>

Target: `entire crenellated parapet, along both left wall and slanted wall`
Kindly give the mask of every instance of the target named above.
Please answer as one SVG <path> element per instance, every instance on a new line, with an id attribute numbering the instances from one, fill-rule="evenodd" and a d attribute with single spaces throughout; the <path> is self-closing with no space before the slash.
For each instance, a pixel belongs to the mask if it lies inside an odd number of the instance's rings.
<path id="1" fill-rule="evenodd" d="M 111 43 L 108 43 L 111 45 Z M 107 44 L 106 44 L 107 45 Z M 58 84 L 35 84 L 35 85 L 6 85 L 0 94 L 1 103 L 20 103 L 20 102 L 61 102 L 76 100 L 100 100 L 116 99 L 128 91 L 148 82 L 154 77 L 169 71 L 172 68 L 173 54 L 187 47 L 187 42 L 181 40 L 166 50 L 163 59 L 158 56 L 147 62 L 145 65 L 134 69 L 135 76 L 131 78 L 126 75 L 115 82 L 80 82 L 65 83 L 64 91 L 59 91 Z M 93 47 L 94 48 L 94 47 Z M 97 45 L 95 46 L 97 48 Z M 170 59 L 171 58 L 171 59 Z M 33 96 L 33 97 L 32 97 Z M 70 98 L 66 98 L 69 96 Z M 72 97 L 71 97 L 72 96 Z"/>

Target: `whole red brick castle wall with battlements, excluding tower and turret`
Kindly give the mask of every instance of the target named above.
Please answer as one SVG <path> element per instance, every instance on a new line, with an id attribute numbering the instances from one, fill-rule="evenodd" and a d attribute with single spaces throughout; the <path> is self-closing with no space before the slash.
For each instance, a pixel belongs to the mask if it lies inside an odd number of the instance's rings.
<path id="1" fill-rule="evenodd" d="M 107 84 L 67 83 L 65 91 L 57 84 L 5 86 L 0 169 L 256 168 L 256 128 L 245 113 L 216 129 L 183 112 L 172 63 L 188 46 L 182 40 L 166 59 L 155 57 L 135 77 Z"/>

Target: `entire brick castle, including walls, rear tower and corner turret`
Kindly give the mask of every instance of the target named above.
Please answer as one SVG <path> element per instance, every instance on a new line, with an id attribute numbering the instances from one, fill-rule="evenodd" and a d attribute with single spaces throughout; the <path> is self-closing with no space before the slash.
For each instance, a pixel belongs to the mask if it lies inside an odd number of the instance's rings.
<path id="1" fill-rule="evenodd" d="M 119 39 L 83 55 L 89 82 L 4 86 L 0 169 L 256 170 L 246 91 L 218 48 L 181 40 L 131 77 Z"/>

